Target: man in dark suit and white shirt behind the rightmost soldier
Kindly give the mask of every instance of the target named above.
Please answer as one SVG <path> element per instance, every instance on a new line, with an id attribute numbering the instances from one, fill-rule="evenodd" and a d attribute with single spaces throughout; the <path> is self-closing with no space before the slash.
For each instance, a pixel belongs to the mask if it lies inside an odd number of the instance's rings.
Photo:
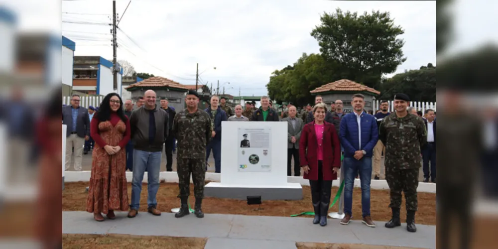
<path id="1" fill-rule="evenodd" d="M 424 161 L 424 182 L 436 183 L 436 121 L 434 120 L 434 110 L 425 111 L 424 123 L 427 129 L 427 143 L 422 148 L 422 159 Z M 429 162 L 430 172 L 429 172 Z"/>

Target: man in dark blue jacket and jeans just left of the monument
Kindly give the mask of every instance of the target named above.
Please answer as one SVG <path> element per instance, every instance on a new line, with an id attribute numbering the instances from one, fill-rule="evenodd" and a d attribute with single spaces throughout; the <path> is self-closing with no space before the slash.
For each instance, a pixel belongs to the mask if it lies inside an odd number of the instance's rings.
<path id="1" fill-rule="evenodd" d="M 206 162 L 208 161 L 211 150 L 215 158 L 215 173 L 221 173 L 221 122 L 227 121 L 227 114 L 220 106 L 220 98 L 218 96 L 211 97 L 211 107 L 204 110 L 211 117 L 212 138 L 206 148 Z M 206 167 L 207 170 L 207 167 Z"/>

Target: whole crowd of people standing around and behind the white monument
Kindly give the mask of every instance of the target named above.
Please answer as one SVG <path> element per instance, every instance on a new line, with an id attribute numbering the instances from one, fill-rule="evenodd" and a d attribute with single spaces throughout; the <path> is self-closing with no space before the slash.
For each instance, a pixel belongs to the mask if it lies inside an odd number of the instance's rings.
<path id="1" fill-rule="evenodd" d="M 355 178 L 359 177 L 362 222 L 375 227 L 370 213 L 370 184 L 372 171 L 378 179 L 379 169 L 376 167 L 379 163 L 376 159 L 372 163 L 372 158 L 383 154 L 385 178 L 391 195 L 389 207 L 392 209 L 392 219 L 385 227 L 400 226 L 401 196 L 404 192 L 408 211 L 407 230 L 416 231 L 418 171 L 421 154 L 424 158 L 432 159 L 433 156 L 435 159 L 435 122 L 432 121 L 432 110 L 426 112 L 429 115 L 425 120 L 410 114 L 407 110 L 410 100 L 404 94 L 394 98 L 394 113 L 389 114 L 388 106 L 386 108 L 385 102 L 382 102 L 375 116 L 365 112 L 365 97 L 361 94 L 355 94 L 352 98 L 353 113 L 345 114 L 340 100 L 334 102 L 334 111 L 331 112 L 322 97 L 316 96 L 315 105 L 312 108 L 308 106 L 299 114 L 300 117 L 292 104 L 279 117 L 268 97 L 261 98 L 259 108 L 248 102 L 245 109 L 237 105 L 232 111 L 226 99 L 212 96 L 209 107 L 201 110 L 198 108 L 199 95 L 195 91 L 187 92 L 186 109 L 178 112 L 168 106 L 166 98 L 162 98 L 160 105 L 157 105 L 157 96 L 152 90 L 146 91 L 138 100 L 135 110 L 131 100 L 123 102 L 114 93 L 104 98 L 98 111 L 96 108 L 80 107 L 79 99 L 78 95 L 73 95 L 71 106 L 63 107 L 63 124 L 67 124 L 68 135 L 66 153 L 70 158 L 71 147 L 74 146 L 76 155 L 80 148 L 87 151 L 83 149 L 83 141 L 95 142 L 87 211 L 94 214 L 96 221 L 105 220 L 102 214 L 108 219 L 115 219 L 114 211 L 128 211 L 129 218 L 138 215 L 144 172 L 148 177 L 147 211 L 155 216 L 161 215 L 156 200 L 161 154 L 165 146 L 166 169 L 172 171 L 175 141 L 181 204 L 175 217 L 190 214 L 187 200 L 191 175 L 194 214 L 198 218 L 204 217 L 204 179 L 211 151 L 215 159 L 215 172 L 221 173 L 222 170 L 222 122 L 287 122 L 287 174 L 292 174 L 291 159 L 294 158 L 294 175 L 300 176 L 302 170 L 303 177 L 310 181 L 314 224 L 327 225 L 332 181 L 337 179 L 342 168 L 345 170 L 345 218 L 341 224 L 348 225 L 353 218 L 353 187 Z M 434 132 L 427 132 L 427 127 L 433 128 Z M 90 142 L 90 149 L 92 144 Z M 68 160 L 66 168 L 69 167 Z M 80 160 L 75 162 L 75 168 L 81 167 L 81 157 L 75 156 L 75 160 Z M 431 166 L 434 170 L 428 171 L 426 177 L 433 177 L 435 182 L 435 164 Z M 133 175 L 130 200 L 126 191 L 126 169 Z"/>

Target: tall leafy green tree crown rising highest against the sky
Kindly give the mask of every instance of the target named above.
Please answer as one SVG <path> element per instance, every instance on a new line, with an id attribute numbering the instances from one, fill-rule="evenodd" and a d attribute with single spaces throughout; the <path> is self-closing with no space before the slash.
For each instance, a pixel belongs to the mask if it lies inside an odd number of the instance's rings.
<path id="1" fill-rule="evenodd" d="M 341 67 L 343 78 L 375 87 L 382 74 L 393 73 L 403 63 L 404 33 L 389 12 L 324 13 L 311 35 L 318 41 L 327 61 Z"/>

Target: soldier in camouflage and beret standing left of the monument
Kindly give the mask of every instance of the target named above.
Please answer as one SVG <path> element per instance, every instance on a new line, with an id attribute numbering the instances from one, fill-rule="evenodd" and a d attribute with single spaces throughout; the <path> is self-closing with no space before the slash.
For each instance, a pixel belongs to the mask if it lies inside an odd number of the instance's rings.
<path id="1" fill-rule="evenodd" d="M 190 195 L 190 174 L 194 182 L 195 216 L 203 218 L 201 210 L 204 198 L 204 179 L 206 177 L 206 146 L 211 139 L 211 118 L 198 109 L 199 94 L 188 91 L 185 97 L 187 109 L 179 112 L 173 120 L 173 132 L 178 141 L 176 156 L 178 186 L 181 200 L 180 211 L 176 218 L 190 214 L 188 197 Z"/>

